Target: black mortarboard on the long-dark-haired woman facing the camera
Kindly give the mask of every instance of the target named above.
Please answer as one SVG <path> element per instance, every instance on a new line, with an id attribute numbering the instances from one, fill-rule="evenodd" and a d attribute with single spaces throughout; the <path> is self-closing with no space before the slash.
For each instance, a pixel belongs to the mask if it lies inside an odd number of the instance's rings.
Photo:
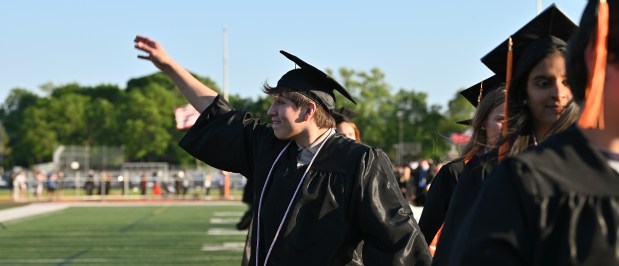
<path id="1" fill-rule="evenodd" d="M 557 39 L 565 44 L 577 29 L 578 26 L 555 4 L 550 5 L 511 36 L 513 69 L 519 67 L 519 61 L 523 54 L 526 54 L 524 51 L 530 44 L 538 41 L 556 42 Z M 503 78 L 506 77 L 508 42 L 509 39 L 505 40 L 481 59 L 490 70 Z"/>

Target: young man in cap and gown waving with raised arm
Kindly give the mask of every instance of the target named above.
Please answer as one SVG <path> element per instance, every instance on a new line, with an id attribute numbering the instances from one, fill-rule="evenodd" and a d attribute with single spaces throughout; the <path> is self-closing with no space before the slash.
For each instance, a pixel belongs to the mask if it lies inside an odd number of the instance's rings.
<path id="1" fill-rule="evenodd" d="M 299 68 L 274 87 L 271 123 L 235 110 L 137 36 L 135 47 L 201 112 L 180 146 L 205 163 L 254 181 L 249 265 L 429 265 L 428 247 L 387 155 L 335 133 L 335 91 L 324 72 L 287 52 Z M 363 241 L 362 258 L 354 251 Z"/>

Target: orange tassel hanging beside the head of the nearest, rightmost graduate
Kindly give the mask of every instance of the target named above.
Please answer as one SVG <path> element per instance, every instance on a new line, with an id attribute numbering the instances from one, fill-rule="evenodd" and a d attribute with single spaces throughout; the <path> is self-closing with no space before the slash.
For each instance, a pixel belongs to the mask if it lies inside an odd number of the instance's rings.
<path id="1" fill-rule="evenodd" d="M 595 39 L 593 71 L 585 89 L 585 106 L 578 120 L 582 128 L 604 129 L 604 78 L 606 77 L 606 56 L 608 54 L 608 2 L 600 0 L 598 5 L 597 35 Z"/>

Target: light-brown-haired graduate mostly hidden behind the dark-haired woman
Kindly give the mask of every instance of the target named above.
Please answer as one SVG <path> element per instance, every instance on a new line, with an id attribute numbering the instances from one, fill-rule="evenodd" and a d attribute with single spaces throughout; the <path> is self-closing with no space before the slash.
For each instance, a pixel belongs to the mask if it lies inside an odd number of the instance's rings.
<path id="1" fill-rule="evenodd" d="M 495 163 L 493 160 L 496 159 L 496 153 L 491 151 L 495 150 L 501 134 L 504 88 L 502 79 L 494 75 L 460 92 L 476 108 L 469 123 L 473 133 L 471 140 L 462 150 L 463 157 L 443 166 L 428 191 L 428 200 L 419 219 L 419 228 L 426 241 L 432 241 L 428 243 L 431 251 L 436 248 L 439 240 L 445 238 L 442 233 L 445 227 L 449 227 L 449 231 L 455 230 L 454 227 L 458 225 L 456 223 L 443 226 L 445 217 L 449 213 L 450 221 L 453 222 L 458 221 L 453 217 L 466 213 L 484 175 Z M 449 232 L 446 235 L 449 236 Z"/>

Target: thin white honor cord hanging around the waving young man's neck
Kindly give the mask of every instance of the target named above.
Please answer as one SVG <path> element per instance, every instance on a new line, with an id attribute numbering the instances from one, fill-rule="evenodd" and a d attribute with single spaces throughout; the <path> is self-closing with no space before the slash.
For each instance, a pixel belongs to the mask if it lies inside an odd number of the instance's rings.
<path id="1" fill-rule="evenodd" d="M 297 189 L 294 191 L 294 194 L 292 195 L 292 199 L 290 199 L 290 202 L 288 203 L 288 207 L 286 208 L 284 217 L 282 217 L 282 221 L 279 223 L 279 227 L 277 228 L 277 231 L 275 232 L 275 236 L 273 237 L 273 242 L 271 242 L 271 246 L 269 246 L 269 251 L 267 252 L 266 257 L 264 258 L 265 266 L 267 265 L 267 261 L 269 260 L 269 256 L 271 255 L 271 251 L 273 250 L 273 246 L 275 246 L 275 241 L 277 240 L 277 236 L 279 236 L 279 232 L 282 230 L 282 226 L 284 225 L 284 222 L 286 221 L 286 216 L 288 216 L 288 212 L 290 212 L 290 207 L 292 206 L 292 202 L 294 201 L 294 198 L 297 196 L 297 193 L 299 192 L 299 188 L 301 188 L 301 185 L 303 184 L 303 180 L 305 180 L 305 176 L 309 172 L 310 167 L 312 167 L 312 164 L 314 163 L 314 159 L 316 159 L 316 156 L 318 155 L 322 147 L 325 145 L 325 143 L 327 143 L 327 140 L 329 139 L 329 137 L 331 137 L 331 135 L 333 135 L 333 132 L 329 132 L 329 135 L 320 144 L 320 147 L 316 151 L 316 154 L 314 154 L 314 157 L 312 157 L 312 160 L 307 166 L 307 169 L 305 169 L 305 172 L 303 173 L 303 176 L 301 177 L 301 180 L 299 181 L 299 184 L 297 185 Z M 271 165 L 271 170 L 269 170 L 269 175 L 267 175 L 267 179 L 264 182 L 264 186 L 262 187 L 262 192 L 260 193 L 260 201 L 258 201 L 258 221 L 256 223 L 256 230 L 257 230 L 256 232 L 256 256 L 255 256 L 256 266 L 259 265 L 258 261 L 260 258 L 260 210 L 262 208 L 262 199 L 264 196 L 264 191 L 266 190 L 267 184 L 269 183 L 269 179 L 271 178 L 271 173 L 273 172 L 273 168 L 275 168 L 275 164 L 277 163 L 277 161 L 279 161 L 279 158 L 282 156 L 282 154 L 284 154 L 284 151 L 288 148 L 288 146 L 290 146 L 290 143 L 292 143 L 292 141 L 288 142 L 288 144 L 286 144 L 286 147 L 284 147 L 284 149 L 279 153 L 279 155 L 277 155 L 277 158 L 273 162 L 273 165 Z"/>

